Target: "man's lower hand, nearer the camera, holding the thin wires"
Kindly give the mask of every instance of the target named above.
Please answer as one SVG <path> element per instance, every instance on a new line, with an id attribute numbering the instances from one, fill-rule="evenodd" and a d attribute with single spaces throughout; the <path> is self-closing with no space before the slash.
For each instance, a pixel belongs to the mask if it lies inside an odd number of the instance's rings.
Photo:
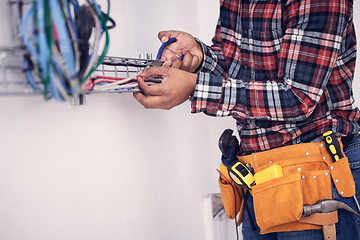
<path id="1" fill-rule="evenodd" d="M 161 76 L 162 82 L 149 86 L 143 78 L 150 76 Z M 138 76 L 142 92 L 134 93 L 134 97 L 145 108 L 169 110 L 189 99 L 195 90 L 196 79 L 196 74 L 176 68 L 148 68 Z"/>

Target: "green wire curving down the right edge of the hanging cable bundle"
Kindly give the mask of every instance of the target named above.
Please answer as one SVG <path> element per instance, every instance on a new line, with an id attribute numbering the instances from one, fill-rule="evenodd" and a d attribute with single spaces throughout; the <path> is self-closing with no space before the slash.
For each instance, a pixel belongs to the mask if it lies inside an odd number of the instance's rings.
<path id="1" fill-rule="evenodd" d="M 87 76 L 85 76 L 82 80 L 81 80 L 81 85 L 83 85 L 86 80 L 91 76 L 91 74 L 96 70 L 96 68 L 104 61 L 106 54 L 109 50 L 109 32 L 108 32 L 108 27 L 107 27 L 107 21 L 109 20 L 109 14 L 110 14 L 110 0 L 108 0 L 108 10 L 106 13 L 106 20 L 104 19 L 104 17 L 102 16 L 101 13 L 98 13 L 94 7 L 94 5 L 90 2 L 90 0 L 87 0 L 87 2 L 90 4 L 91 8 L 94 10 L 94 12 L 96 13 L 96 15 L 98 16 L 98 18 L 100 19 L 100 22 L 102 24 L 102 27 L 104 29 L 105 32 L 105 46 L 104 49 L 102 51 L 102 54 L 100 55 L 98 62 L 96 64 L 95 67 L 92 67 L 90 72 L 87 74 Z"/>

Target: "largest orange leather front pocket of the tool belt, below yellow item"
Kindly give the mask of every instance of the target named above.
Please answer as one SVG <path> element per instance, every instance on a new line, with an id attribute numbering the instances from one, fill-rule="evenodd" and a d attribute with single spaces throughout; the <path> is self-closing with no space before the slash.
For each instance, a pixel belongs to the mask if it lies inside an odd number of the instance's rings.
<path id="1" fill-rule="evenodd" d="M 252 195 L 260 229 L 269 229 L 301 218 L 303 196 L 300 174 L 291 174 L 255 185 Z"/>

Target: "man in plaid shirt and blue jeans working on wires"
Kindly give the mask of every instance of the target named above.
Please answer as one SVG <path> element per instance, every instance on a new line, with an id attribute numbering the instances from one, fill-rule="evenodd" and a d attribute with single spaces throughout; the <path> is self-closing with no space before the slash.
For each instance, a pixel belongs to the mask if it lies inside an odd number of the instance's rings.
<path id="1" fill-rule="evenodd" d="M 356 136 L 360 112 L 352 94 L 356 58 L 353 1 L 222 0 L 220 5 L 211 47 L 184 32 L 159 33 L 162 42 L 172 37 L 177 42 L 163 55 L 166 67 L 139 75 L 143 92 L 134 96 L 141 104 L 171 109 L 190 98 L 193 113 L 232 116 L 243 156 L 321 142 L 330 130 L 342 139 Z M 151 75 L 161 75 L 162 83 L 148 86 L 143 78 Z M 357 182 L 358 145 L 356 137 L 346 146 L 349 150 L 344 149 Z M 324 171 L 328 173 L 328 168 Z M 342 197 L 334 184 L 332 187 L 330 198 L 360 211 L 352 197 Z M 250 209 L 252 202 L 247 194 Z M 260 234 L 259 227 L 251 229 L 253 211 L 250 215 L 244 211 L 244 239 L 323 239 L 322 231 L 311 227 Z M 354 215 L 339 210 L 337 236 L 360 239 Z"/>

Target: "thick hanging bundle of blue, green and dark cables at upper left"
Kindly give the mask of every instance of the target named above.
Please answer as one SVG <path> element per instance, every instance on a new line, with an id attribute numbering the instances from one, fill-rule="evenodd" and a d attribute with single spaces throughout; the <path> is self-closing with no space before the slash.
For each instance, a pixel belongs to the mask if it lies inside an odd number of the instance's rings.
<path id="1" fill-rule="evenodd" d="M 34 0 L 22 17 L 20 34 L 29 54 L 25 75 L 45 99 L 73 101 L 102 63 L 109 46 L 108 12 L 95 0 Z M 105 36 L 104 44 L 100 44 Z M 102 46 L 100 46 L 102 45 Z"/>

